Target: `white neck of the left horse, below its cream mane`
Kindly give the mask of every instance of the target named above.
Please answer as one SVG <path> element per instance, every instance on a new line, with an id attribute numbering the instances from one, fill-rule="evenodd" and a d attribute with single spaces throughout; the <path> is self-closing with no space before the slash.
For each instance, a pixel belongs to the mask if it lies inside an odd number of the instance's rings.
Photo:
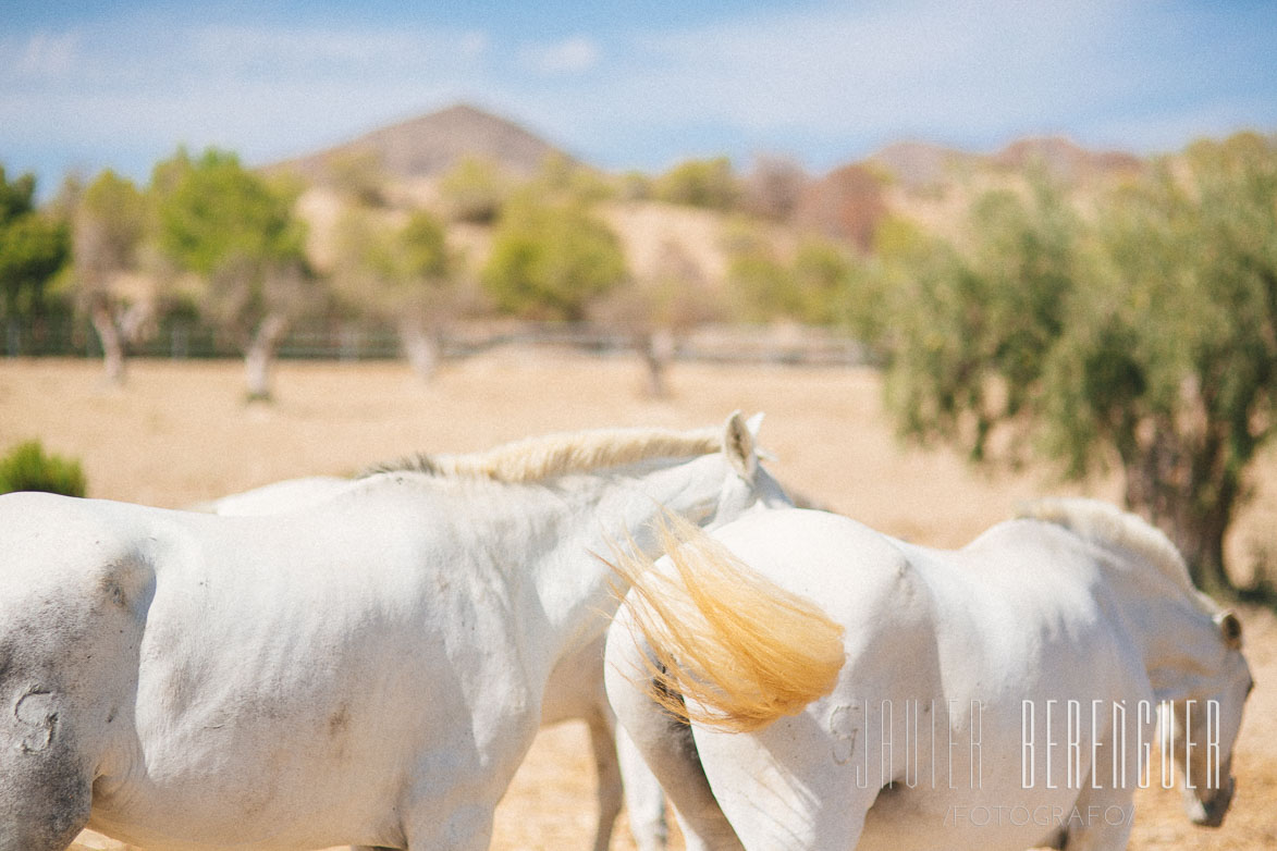
<path id="1" fill-rule="evenodd" d="M 653 554 L 654 523 L 665 512 L 697 523 L 711 515 L 725 475 L 719 455 L 705 455 L 660 467 L 614 470 L 577 484 L 584 487 L 571 500 L 567 535 L 535 566 L 555 658 L 596 638 L 616 611 L 619 601 L 605 561 L 612 549 L 632 544 Z"/>

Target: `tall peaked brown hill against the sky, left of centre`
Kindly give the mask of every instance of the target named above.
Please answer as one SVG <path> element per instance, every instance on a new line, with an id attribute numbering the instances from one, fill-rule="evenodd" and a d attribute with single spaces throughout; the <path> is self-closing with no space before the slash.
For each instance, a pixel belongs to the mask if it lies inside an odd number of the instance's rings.
<path id="1" fill-rule="evenodd" d="M 309 182 L 324 182 L 333 168 L 364 163 L 392 181 L 419 181 L 438 177 L 466 157 L 476 157 L 515 176 L 530 176 L 549 156 L 572 161 L 513 121 L 461 103 L 277 163 L 269 170 L 294 171 Z"/>

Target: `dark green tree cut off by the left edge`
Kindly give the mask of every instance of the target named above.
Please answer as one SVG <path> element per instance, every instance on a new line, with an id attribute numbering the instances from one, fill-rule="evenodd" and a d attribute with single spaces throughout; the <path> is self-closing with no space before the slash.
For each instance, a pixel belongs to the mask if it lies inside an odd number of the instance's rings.
<path id="1" fill-rule="evenodd" d="M 0 309 L 10 319 L 43 314 L 70 254 L 66 222 L 36 209 L 34 195 L 34 176 L 10 182 L 0 166 Z"/>

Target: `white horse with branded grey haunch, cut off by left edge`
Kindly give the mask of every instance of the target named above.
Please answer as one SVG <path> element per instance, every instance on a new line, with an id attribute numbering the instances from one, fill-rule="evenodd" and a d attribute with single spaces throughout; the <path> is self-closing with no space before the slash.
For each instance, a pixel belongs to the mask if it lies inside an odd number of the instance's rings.
<path id="1" fill-rule="evenodd" d="M 423 458 L 262 517 L 0 498 L 0 851 L 480 851 L 591 551 L 784 495 L 738 416 Z"/>

